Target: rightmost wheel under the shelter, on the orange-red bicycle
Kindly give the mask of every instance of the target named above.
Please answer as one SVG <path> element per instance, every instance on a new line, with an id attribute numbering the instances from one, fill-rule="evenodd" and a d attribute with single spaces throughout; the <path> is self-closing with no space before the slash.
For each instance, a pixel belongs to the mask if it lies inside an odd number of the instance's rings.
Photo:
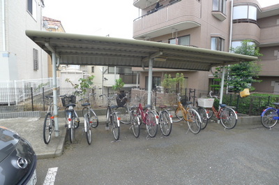
<path id="1" fill-rule="evenodd" d="M 232 129 L 236 126 L 237 116 L 232 108 L 224 108 L 221 110 L 220 121 L 227 129 Z"/>

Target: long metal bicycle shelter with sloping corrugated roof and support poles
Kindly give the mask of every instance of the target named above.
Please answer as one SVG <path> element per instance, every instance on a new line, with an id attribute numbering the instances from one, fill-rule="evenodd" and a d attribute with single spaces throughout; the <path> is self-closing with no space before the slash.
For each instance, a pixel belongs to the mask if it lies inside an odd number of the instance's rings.
<path id="1" fill-rule="evenodd" d="M 257 57 L 207 50 L 198 47 L 171 45 L 145 40 L 66 34 L 50 31 L 25 31 L 26 35 L 52 57 L 54 79 L 55 131 L 58 127 L 56 66 L 128 66 L 148 69 L 148 99 L 151 103 L 152 68 L 169 68 L 189 71 L 210 71 L 215 66 L 255 61 Z M 222 103 L 225 71 L 222 73 L 220 103 Z M 55 132 L 58 136 L 59 133 Z"/>

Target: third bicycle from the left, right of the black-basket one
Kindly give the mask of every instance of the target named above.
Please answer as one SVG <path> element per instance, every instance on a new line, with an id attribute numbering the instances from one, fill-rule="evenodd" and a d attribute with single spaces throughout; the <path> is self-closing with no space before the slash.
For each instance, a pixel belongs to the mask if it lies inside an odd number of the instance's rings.
<path id="1" fill-rule="evenodd" d="M 88 97 L 80 99 L 80 101 L 89 101 L 90 96 L 94 96 L 95 94 L 89 94 Z M 88 145 L 91 145 L 91 127 L 96 128 L 99 124 L 99 119 L 91 108 L 91 103 L 82 103 L 82 114 L 84 116 L 84 132 L 86 134 L 86 140 Z"/>

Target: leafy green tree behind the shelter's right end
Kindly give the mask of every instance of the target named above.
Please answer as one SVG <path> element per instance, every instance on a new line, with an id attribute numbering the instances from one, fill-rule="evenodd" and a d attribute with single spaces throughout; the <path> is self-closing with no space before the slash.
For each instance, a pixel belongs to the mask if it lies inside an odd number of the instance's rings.
<path id="1" fill-rule="evenodd" d="M 259 47 L 252 43 L 252 40 L 243 40 L 239 47 L 231 50 L 236 54 L 246 54 L 254 57 L 262 56 L 259 53 Z M 227 69 L 227 86 L 234 92 L 239 92 L 246 88 L 252 91 L 255 89 L 251 86 L 253 82 L 262 82 L 262 80 L 256 80 L 260 70 L 261 67 L 257 64 L 257 61 L 243 61 L 239 64 L 231 65 Z"/>

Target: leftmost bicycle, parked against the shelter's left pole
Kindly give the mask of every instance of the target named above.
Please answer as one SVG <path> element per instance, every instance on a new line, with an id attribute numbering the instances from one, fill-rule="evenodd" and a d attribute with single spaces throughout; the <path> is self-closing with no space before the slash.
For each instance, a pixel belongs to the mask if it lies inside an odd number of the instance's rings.
<path id="1" fill-rule="evenodd" d="M 48 108 L 47 108 L 47 114 L 45 114 L 45 120 L 43 124 L 43 140 L 45 144 L 50 143 L 50 139 L 52 137 L 52 132 L 54 130 L 54 111 L 53 111 L 53 96 L 45 96 L 47 98 L 46 101 L 49 102 Z M 59 109 L 59 108 L 58 108 Z"/>

